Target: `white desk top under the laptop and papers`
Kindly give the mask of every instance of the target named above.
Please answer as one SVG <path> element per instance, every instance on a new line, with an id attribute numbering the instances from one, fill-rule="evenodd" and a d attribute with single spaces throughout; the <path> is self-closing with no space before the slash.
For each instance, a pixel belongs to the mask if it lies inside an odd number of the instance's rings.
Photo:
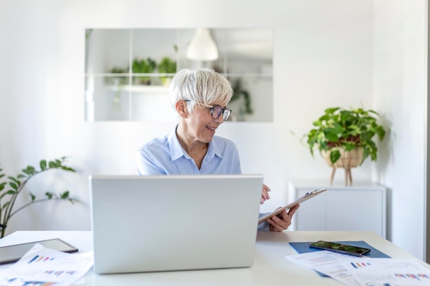
<path id="1" fill-rule="evenodd" d="M 89 231 L 18 231 L 0 239 L 0 246 L 59 237 L 82 252 L 92 250 Z M 323 278 L 313 270 L 288 261 L 284 257 L 297 254 L 289 241 L 358 241 L 363 240 L 393 258 L 416 259 L 413 255 L 394 246 L 370 231 L 284 231 L 283 233 L 259 232 L 254 263 L 249 268 L 225 270 L 197 270 L 178 272 L 152 272 L 139 274 L 94 274 L 84 276 L 86 285 L 342 285 L 332 278 Z M 427 267 L 430 266 L 420 261 Z"/>

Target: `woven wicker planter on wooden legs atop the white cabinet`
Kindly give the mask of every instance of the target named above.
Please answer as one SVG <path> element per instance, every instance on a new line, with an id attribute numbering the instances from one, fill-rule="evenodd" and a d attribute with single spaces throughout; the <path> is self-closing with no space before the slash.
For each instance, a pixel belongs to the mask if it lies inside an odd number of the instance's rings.
<path id="1" fill-rule="evenodd" d="M 341 153 L 341 158 L 337 160 L 335 165 L 330 161 L 330 152 L 321 151 L 321 155 L 326 160 L 327 164 L 332 167 L 332 174 L 330 176 L 330 184 L 333 182 L 333 178 L 335 178 L 336 168 L 345 169 L 345 185 L 348 186 L 348 182 L 352 184 L 352 174 L 351 168 L 358 167 L 363 161 L 363 148 L 357 147 L 351 151 L 345 151 L 343 148 L 339 148 L 339 152 Z"/>

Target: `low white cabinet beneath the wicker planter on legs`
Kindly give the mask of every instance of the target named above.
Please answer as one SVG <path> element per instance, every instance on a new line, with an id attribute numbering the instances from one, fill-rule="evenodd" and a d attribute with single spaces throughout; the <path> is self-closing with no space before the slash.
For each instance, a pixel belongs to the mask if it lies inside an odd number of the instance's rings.
<path id="1" fill-rule="evenodd" d="M 381 184 L 331 187 L 317 183 L 288 183 L 292 200 L 308 191 L 327 189 L 303 202 L 293 218 L 293 230 L 371 230 L 386 237 L 386 188 Z"/>

